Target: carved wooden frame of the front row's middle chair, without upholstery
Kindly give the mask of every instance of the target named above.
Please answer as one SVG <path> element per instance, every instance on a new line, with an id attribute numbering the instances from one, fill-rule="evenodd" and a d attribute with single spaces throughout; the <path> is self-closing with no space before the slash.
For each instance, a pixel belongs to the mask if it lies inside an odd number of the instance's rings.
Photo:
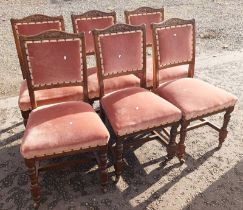
<path id="1" fill-rule="evenodd" d="M 104 75 L 103 73 L 103 67 L 102 67 L 102 59 L 101 59 L 101 51 L 100 51 L 100 42 L 99 42 L 99 36 L 102 35 L 113 35 L 113 34 L 123 34 L 123 33 L 130 33 L 134 31 L 141 31 L 143 40 L 142 40 L 142 46 L 143 46 L 143 68 L 141 70 L 134 70 L 134 71 L 122 71 L 119 73 L 107 73 Z M 132 26 L 128 24 L 116 24 L 114 26 L 111 26 L 104 30 L 94 30 L 93 31 L 94 40 L 95 40 L 95 51 L 96 51 L 96 61 L 98 66 L 98 80 L 100 85 L 100 99 L 104 96 L 104 85 L 103 80 L 107 78 L 112 78 L 120 75 L 128 75 L 128 74 L 136 74 L 139 76 L 141 81 L 141 87 L 146 87 L 146 32 L 145 32 L 145 25 L 142 26 Z M 142 74 L 142 75 L 141 75 Z M 102 119 L 108 122 L 109 125 L 111 123 L 109 122 L 108 118 L 105 115 L 105 112 L 102 108 L 102 105 L 100 103 L 100 110 L 101 110 L 101 117 Z M 133 133 L 125 134 L 125 135 L 118 135 L 115 133 L 115 131 L 112 129 L 112 132 L 115 136 L 115 154 L 112 148 L 112 145 L 109 145 L 110 148 L 113 151 L 113 156 L 115 156 L 115 174 L 116 174 L 116 182 L 119 181 L 119 178 L 122 173 L 123 168 L 123 147 L 130 148 L 134 146 L 140 146 L 144 144 L 145 142 L 152 141 L 152 140 L 160 140 L 158 139 L 157 135 L 154 135 L 154 130 L 161 130 L 162 128 L 171 126 L 170 130 L 170 140 L 169 144 L 167 146 L 167 159 L 170 160 L 176 155 L 177 151 L 177 145 L 176 145 L 176 134 L 177 134 L 177 128 L 179 126 L 179 122 L 173 122 L 168 123 L 165 125 L 160 125 L 157 127 L 148 128 L 145 130 L 136 131 Z M 110 126 L 112 128 L 112 126 Z M 150 134 L 149 137 L 146 135 Z M 131 140 L 132 141 L 129 141 Z M 124 144 L 124 146 L 123 146 Z"/>

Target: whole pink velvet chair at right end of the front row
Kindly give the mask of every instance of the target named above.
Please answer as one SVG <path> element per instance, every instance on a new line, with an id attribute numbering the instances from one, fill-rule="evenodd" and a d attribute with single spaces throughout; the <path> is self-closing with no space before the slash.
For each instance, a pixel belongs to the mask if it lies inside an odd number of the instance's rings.
<path id="1" fill-rule="evenodd" d="M 154 92 L 182 111 L 178 157 L 184 163 L 187 131 L 208 125 L 219 132 L 218 148 L 227 137 L 227 125 L 237 101 L 236 96 L 196 78 L 159 82 L 159 73 L 171 67 L 189 65 L 189 76 L 195 67 L 195 20 L 168 19 L 152 24 Z M 205 117 L 225 112 L 220 128 Z M 201 122 L 189 126 L 191 122 Z M 167 134 L 168 135 L 168 134 Z M 169 136 L 169 135 L 168 135 Z"/>

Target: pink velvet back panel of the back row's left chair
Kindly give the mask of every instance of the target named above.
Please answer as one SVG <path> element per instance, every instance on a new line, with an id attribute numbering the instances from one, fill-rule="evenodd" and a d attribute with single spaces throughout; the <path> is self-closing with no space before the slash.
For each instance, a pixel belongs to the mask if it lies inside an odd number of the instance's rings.
<path id="1" fill-rule="evenodd" d="M 61 22 L 16 24 L 18 34 L 31 36 L 51 29 L 61 30 Z"/>

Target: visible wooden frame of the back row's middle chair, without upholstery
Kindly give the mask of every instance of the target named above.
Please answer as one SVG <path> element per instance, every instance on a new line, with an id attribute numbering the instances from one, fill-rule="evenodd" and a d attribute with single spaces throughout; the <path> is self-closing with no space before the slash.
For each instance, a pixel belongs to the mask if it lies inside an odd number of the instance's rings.
<path id="1" fill-rule="evenodd" d="M 81 15 L 72 14 L 71 19 L 72 19 L 72 25 L 73 25 L 73 32 L 80 33 L 78 31 L 78 27 L 77 27 L 78 20 L 88 20 L 88 19 L 97 19 L 97 18 L 106 18 L 106 17 L 113 17 L 113 23 L 116 24 L 116 12 L 115 11 L 103 12 L 103 11 L 99 11 L 99 10 L 90 10 Z M 94 55 L 94 54 L 95 54 L 95 50 L 91 51 L 91 52 L 86 52 L 86 55 Z"/>

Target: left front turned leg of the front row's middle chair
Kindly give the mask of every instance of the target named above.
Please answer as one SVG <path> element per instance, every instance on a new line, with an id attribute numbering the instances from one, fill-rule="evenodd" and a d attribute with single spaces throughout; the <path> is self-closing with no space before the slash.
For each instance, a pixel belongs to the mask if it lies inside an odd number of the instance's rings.
<path id="1" fill-rule="evenodd" d="M 115 162 L 115 174 L 116 180 L 118 182 L 122 173 L 123 168 L 123 144 L 120 138 L 116 139 L 116 162 Z"/>

